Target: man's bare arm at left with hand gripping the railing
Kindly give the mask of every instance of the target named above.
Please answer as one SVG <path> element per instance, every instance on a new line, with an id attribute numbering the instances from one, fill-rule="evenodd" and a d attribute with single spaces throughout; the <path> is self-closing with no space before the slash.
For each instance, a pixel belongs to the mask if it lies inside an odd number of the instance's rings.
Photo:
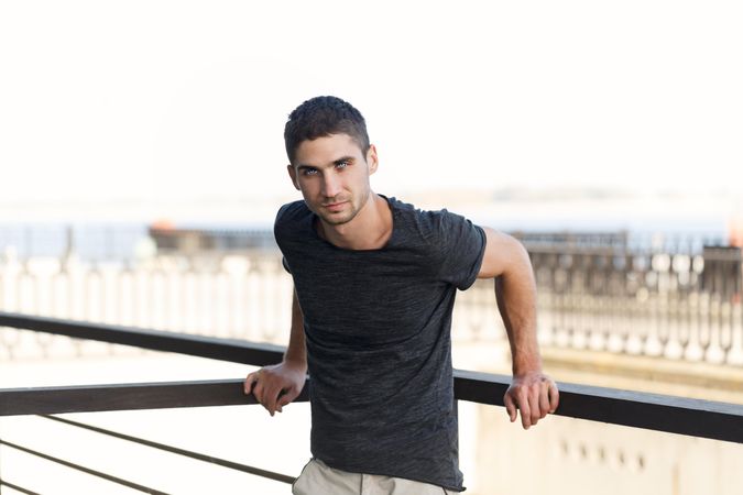
<path id="1" fill-rule="evenodd" d="M 273 416 L 282 407 L 297 398 L 307 377 L 307 350 L 305 348 L 304 316 L 296 289 L 292 299 L 292 331 L 284 360 L 264 366 L 248 375 L 245 394 L 253 394 Z"/>

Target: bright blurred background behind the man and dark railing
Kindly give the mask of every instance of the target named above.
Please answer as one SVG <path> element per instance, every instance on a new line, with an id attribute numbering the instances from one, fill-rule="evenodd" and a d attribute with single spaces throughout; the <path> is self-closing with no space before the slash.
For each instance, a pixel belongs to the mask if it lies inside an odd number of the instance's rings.
<path id="1" fill-rule="evenodd" d="M 743 404 L 742 23 L 733 1 L 4 1 L 0 310 L 285 344 L 283 127 L 335 95 L 367 119 L 376 193 L 524 242 L 557 380 Z M 458 297 L 456 367 L 507 373 L 492 284 Z M 0 370 L 6 388 L 250 371 L 9 328 Z M 291 475 L 309 458 L 306 405 L 69 417 Z M 460 403 L 468 493 L 743 482 L 740 444 L 505 418 Z M 168 493 L 289 492 L 81 435 L 0 418 L 2 439 Z M 7 446 L 0 476 L 129 493 Z"/>

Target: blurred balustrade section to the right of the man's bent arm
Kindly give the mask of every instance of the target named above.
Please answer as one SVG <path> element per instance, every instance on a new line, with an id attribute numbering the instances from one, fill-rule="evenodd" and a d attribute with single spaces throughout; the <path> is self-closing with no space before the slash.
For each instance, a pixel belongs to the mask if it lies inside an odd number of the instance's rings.
<path id="1" fill-rule="evenodd" d="M 739 248 L 534 244 L 529 254 L 543 345 L 743 365 Z"/>

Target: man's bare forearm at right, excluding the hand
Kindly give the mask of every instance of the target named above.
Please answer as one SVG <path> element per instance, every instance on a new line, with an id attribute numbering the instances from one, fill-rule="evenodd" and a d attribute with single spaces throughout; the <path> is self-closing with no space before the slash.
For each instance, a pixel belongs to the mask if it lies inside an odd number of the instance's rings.
<path id="1" fill-rule="evenodd" d="M 511 345 L 514 375 L 540 372 L 536 337 L 536 284 L 526 250 L 518 244 L 509 267 L 495 278 L 495 297 Z"/>

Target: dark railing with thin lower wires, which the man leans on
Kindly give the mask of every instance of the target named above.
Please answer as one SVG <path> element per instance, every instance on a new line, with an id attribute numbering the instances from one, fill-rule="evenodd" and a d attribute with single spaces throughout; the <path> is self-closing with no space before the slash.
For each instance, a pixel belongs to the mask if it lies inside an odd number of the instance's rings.
<path id="1" fill-rule="evenodd" d="M 0 327 L 13 327 L 76 339 L 120 343 L 251 365 L 275 363 L 283 355 L 283 348 L 271 344 L 18 314 L 0 312 Z M 242 380 L 220 380 L 0 389 L 0 416 L 43 415 L 46 419 L 61 421 L 70 427 L 87 429 L 271 480 L 292 483 L 294 477 L 285 474 L 50 416 L 63 413 L 255 404 L 252 396 L 245 396 L 242 393 Z M 504 375 L 455 371 L 455 397 L 458 400 L 503 406 L 503 394 L 509 384 L 510 377 Z M 561 383 L 559 386 L 560 407 L 556 411 L 556 415 L 559 416 L 743 443 L 743 406 L 741 405 L 567 383 Z M 308 387 L 312 387 L 310 380 L 308 380 L 303 395 L 297 402 L 307 400 Z M 163 493 L 3 439 L 0 439 L 0 444 L 133 490 L 145 493 Z M 0 485 L 12 487 L 22 493 L 33 493 L 8 480 L 0 480 Z"/>

